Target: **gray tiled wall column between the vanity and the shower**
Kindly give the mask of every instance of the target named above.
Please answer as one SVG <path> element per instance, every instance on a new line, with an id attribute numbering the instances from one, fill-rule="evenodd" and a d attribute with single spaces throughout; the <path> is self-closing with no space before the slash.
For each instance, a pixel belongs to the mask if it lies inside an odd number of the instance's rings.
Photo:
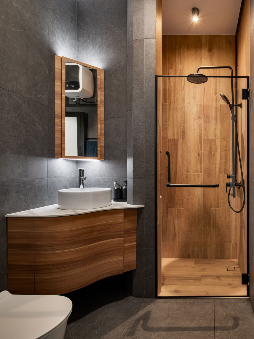
<path id="1" fill-rule="evenodd" d="M 155 296 L 154 76 L 156 1 L 128 0 L 127 177 L 128 202 L 138 211 L 137 269 L 131 293 Z"/>

